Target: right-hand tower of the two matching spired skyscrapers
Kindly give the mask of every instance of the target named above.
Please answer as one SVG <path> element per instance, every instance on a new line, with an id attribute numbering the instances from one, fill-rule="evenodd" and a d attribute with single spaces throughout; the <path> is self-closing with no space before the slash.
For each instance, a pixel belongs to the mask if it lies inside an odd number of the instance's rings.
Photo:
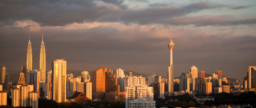
<path id="1" fill-rule="evenodd" d="M 40 54 L 39 54 L 39 72 L 40 72 L 40 81 L 45 82 L 46 77 L 46 54 L 45 54 L 45 43 L 42 36 L 42 42 L 41 42 L 41 48 L 40 48 Z"/>

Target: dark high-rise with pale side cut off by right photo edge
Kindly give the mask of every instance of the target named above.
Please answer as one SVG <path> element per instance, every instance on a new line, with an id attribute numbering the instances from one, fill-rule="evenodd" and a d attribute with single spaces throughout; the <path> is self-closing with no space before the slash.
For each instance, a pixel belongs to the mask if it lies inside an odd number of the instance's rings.
<path id="1" fill-rule="evenodd" d="M 248 66 L 247 86 L 248 90 L 251 88 L 256 88 L 256 66 Z"/>

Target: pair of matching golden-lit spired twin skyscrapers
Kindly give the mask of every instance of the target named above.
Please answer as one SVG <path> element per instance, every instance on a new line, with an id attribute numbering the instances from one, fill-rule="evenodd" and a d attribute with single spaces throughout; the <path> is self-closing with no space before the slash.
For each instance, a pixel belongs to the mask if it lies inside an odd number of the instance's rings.
<path id="1" fill-rule="evenodd" d="M 26 54 L 26 81 L 28 81 L 28 72 L 33 69 L 33 59 L 32 59 L 32 47 L 29 39 L 27 54 Z M 46 77 L 46 54 L 45 54 L 45 43 L 42 36 L 40 54 L 39 54 L 39 72 L 40 72 L 40 81 L 45 81 Z"/>

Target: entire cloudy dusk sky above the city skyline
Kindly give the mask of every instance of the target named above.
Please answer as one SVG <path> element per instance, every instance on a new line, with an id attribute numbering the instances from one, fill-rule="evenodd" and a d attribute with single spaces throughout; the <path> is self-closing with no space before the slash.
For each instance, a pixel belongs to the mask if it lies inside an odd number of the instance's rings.
<path id="1" fill-rule="evenodd" d="M 30 37 L 33 69 L 44 35 L 46 69 L 115 70 L 167 78 L 199 71 L 242 80 L 256 66 L 255 0 L 1 0 L 0 66 L 20 70 Z M 17 72 L 18 73 L 18 72 Z"/>

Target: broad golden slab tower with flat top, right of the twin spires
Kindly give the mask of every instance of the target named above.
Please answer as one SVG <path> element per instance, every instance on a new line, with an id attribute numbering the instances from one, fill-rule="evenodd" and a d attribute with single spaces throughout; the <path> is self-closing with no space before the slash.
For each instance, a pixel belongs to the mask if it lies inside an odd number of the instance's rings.
<path id="1" fill-rule="evenodd" d="M 52 61 L 52 100 L 66 102 L 66 72 L 67 61 Z"/>

